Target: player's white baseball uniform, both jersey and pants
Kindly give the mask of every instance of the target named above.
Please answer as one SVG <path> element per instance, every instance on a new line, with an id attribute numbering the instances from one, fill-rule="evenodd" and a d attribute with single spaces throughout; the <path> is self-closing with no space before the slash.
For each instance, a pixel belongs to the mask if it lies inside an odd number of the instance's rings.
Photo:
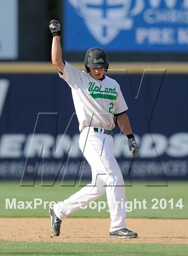
<path id="1" fill-rule="evenodd" d="M 125 228 L 124 180 L 113 154 L 113 138 L 106 133 L 107 129 L 115 127 L 114 115 L 128 109 L 120 85 L 108 76 L 104 76 L 102 81 L 96 80 L 67 62 L 64 73 L 59 72 L 59 76 L 72 89 L 81 131 L 79 147 L 91 166 L 92 182 L 64 202 L 55 204 L 55 214 L 63 220 L 69 213 L 106 192 L 111 217 L 110 232 Z"/>

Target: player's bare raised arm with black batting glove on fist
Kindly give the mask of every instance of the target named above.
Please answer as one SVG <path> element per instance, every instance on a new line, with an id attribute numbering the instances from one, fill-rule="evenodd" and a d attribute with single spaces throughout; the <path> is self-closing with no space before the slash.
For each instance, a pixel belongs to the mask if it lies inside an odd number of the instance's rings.
<path id="1" fill-rule="evenodd" d="M 53 35 L 52 47 L 51 47 L 51 60 L 53 65 L 60 71 L 64 72 L 64 62 L 62 60 L 62 50 L 60 43 L 60 23 L 57 20 L 50 22 L 50 31 Z"/>

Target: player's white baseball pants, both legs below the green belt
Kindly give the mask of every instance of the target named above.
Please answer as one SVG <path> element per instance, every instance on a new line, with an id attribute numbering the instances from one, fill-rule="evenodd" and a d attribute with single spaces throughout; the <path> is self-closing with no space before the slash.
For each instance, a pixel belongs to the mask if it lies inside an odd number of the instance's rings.
<path id="1" fill-rule="evenodd" d="M 125 228 L 124 180 L 113 154 L 112 136 L 103 134 L 103 128 L 98 127 L 98 131 L 95 132 L 93 127 L 86 127 L 79 139 L 79 147 L 91 166 L 91 184 L 87 184 L 64 202 L 55 204 L 54 211 L 56 216 L 63 220 L 68 214 L 88 205 L 106 192 L 111 232 Z"/>

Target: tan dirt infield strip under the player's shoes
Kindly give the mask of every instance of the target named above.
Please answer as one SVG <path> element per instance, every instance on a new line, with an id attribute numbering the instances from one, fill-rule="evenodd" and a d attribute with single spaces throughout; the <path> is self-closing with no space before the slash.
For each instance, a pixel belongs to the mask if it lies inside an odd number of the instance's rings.
<path id="1" fill-rule="evenodd" d="M 0 240 L 33 242 L 188 243 L 188 220 L 128 218 L 139 238 L 110 239 L 109 218 L 67 218 L 61 234 L 51 232 L 50 218 L 0 218 Z"/>

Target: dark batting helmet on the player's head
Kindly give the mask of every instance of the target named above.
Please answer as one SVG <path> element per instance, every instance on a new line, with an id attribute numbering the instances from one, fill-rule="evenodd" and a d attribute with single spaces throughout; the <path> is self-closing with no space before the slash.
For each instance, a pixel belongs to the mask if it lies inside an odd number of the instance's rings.
<path id="1" fill-rule="evenodd" d="M 104 71 L 107 72 L 109 64 L 106 52 L 98 47 L 89 49 L 85 54 L 84 65 L 87 73 L 90 72 L 90 67 L 104 67 Z"/>

